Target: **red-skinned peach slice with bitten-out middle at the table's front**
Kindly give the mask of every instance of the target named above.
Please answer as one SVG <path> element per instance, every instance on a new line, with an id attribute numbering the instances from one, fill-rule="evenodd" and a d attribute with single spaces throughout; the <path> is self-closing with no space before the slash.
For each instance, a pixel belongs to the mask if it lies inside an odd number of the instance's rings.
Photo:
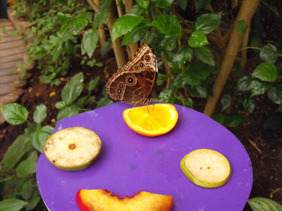
<path id="1" fill-rule="evenodd" d="M 82 211 L 168 211 L 172 210 L 173 197 L 140 191 L 133 197 L 120 198 L 108 190 L 80 190 L 76 203 Z"/>

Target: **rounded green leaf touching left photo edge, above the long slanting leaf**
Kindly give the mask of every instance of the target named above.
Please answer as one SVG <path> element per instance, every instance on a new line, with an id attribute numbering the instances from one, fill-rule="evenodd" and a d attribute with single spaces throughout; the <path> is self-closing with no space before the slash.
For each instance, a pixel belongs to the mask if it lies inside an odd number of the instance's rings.
<path id="1" fill-rule="evenodd" d="M 18 103 L 9 103 L 1 107 L 5 120 L 13 125 L 22 124 L 27 120 L 28 111 Z"/>

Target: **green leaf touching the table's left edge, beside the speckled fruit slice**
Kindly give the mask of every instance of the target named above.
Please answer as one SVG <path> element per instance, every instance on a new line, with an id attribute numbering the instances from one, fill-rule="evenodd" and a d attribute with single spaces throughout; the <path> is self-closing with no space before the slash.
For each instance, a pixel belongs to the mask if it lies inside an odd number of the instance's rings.
<path id="1" fill-rule="evenodd" d="M 54 127 L 51 126 L 44 126 L 39 129 L 36 133 L 34 138 L 32 139 L 32 146 L 37 149 L 40 153 L 42 153 L 44 149 L 44 145 L 51 136 L 52 132 L 54 131 Z"/>

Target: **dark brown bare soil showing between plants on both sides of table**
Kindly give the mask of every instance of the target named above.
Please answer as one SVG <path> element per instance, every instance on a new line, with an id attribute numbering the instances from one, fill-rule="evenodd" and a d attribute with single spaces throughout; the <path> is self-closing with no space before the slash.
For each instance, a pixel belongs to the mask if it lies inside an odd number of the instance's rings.
<path id="1" fill-rule="evenodd" d="M 73 75 L 78 72 L 84 72 L 85 84 L 98 75 L 101 76 L 99 84 L 92 95 L 97 100 L 102 97 L 102 89 L 104 84 L 109 79 L 109 75 L 112 75 L 116 67 L 116 61 L 113 55 L 99 56 L 99 49 L 95 51 L 95 56 L 98 61 L 104 63 L 102 68 L 89 68 L 80 67 L 80 61 L 78 59 L 73 60 L 73 67 L 69 70 L 68 75 L 61 77 L 61 84 L 58 87 L 49 87 L 39 82 L 39 70 L 31 70 L 32 77 L 28 79 L 23 96 L 20 97 L 18 103 L 22 104 L 29 110 L 29 121 L 32 122 L 32 114 L 35 107 L 40 103 L 47 106 L 47 118 L 42 125 L 51 125 L 55 127 L 56 115 L 58 110 L 55 107 L 57 101 L 61 101 L 61 90 L 63 85 Z M 251 59 L 252 60 L 252 59 Z M 248 64 L 252 65 L 252 62 Z M 156 90 L 161 90 L 160 87 L 156 87 Z M 85 93 L 87 89 L 84 89 Z M 50 95 L 50 94 L 54 95 Z M 250 198 L 265 197 L 276 200 L 276 202 L 282 204 L 282 137 L 279 134 L 270 134 L 266 136 L 263 125 L 269 116 L 276 112 L 277 106 L 269 101 L 266 95 L 258 96 L 256 98 L 257 104 L 255 110 L 252 113 L 242 112 L 243 123 L 238 127 L 228 128 L 238 137 L 243 143 L 247 153 L 250 155 L 252 161 L 252 167 L 254 172 L 254 182 Z M 197 103 L 199 106 L 195 108 L 202 112 L 202 108 L 205 102 Z M 201 106 L 202 105 L 202 106 Z M 93 106 L 92 109 L 94 109 Z M 0 125 L 0 160 L 4 157 L 8 146 L 11 146 L 13 140 L 20 134 L 24 133 L 24 129 L 27 124 L 20 124 L 13 126 L 11 124 Z M 246 205 L 245 210 L 250 210 L 250 207 Z"/>

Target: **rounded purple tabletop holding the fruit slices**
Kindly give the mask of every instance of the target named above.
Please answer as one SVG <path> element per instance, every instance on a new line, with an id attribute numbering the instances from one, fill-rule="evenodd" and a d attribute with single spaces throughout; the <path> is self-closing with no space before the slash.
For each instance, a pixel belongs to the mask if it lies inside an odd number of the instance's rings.
<path id="1" fill-rule="evenodd" d="M 252 165 L 240 141 L 221 124 L 195 110 L 175 105 L 179 119 L 171 132 L 157 137 L 136 134 L 123 120 L 125 103 L 114 103 L 60 120 L 54 132 L 85 127 L 102 140 L 102 151 L 89 168 L 59 170 L 44 153 L 37 163 L 39 191 L 51 211 L 79 210 L 79 189 L 108 189 L 120 197 L 148 191 L 173 196 L 173 210 L 243 210 L 252 188 Z M 209 148 L 226 156 L 232 175 L 219 188 L 192 184 L 180 170 L 184 155 Z"/>

